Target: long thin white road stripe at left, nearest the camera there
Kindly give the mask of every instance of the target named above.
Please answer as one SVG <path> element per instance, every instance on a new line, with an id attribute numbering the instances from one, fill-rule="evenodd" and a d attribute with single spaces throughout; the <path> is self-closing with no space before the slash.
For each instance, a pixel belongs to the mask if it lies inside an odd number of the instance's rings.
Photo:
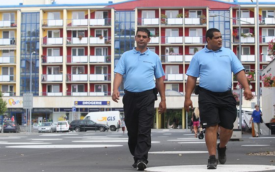
<path id="1" fill-rule="evenodd" d="M 91 148 L 91 147 L 118 147 L 123 145 L 112 144 L 50 144 L 50 145 L 20 145 L 6 146 L 11 148 Z"/>

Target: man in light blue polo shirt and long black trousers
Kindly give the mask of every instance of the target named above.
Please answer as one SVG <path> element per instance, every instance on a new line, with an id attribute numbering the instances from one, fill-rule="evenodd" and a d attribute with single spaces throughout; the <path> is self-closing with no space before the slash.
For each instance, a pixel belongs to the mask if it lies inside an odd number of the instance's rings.
<path id="1" fill-rule="evenodd" d="M 166 111 L 165 75 L 159 56 L 147 48 L 150 31 L 138 28 L 135 36 L 137 47 L 123 53 L 114 72 L 112 100 L 118 102 L 118 87 L 124 77 L 123 109 L 124 121 L 128 131 L 128 145 L 135 163 L 132 168 L 144 171 L 151 148 L 151 126 L 154 121 L 154 105 L 157 99 L 157 86 L 161 102 L 159 113 Z M 156 83 L 154 81 L 156 78 Z"/>

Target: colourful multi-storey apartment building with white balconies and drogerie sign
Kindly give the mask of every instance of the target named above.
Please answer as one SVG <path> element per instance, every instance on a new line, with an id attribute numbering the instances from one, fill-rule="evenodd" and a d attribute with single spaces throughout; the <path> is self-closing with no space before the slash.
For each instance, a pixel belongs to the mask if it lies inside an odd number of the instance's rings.
<path id="1" fill-rule="evenodd" d="M 148 47 L 159 55 L 165 70 L 167 113 L 158 114 L 156 101 L 157 128 L 165 128 L 173 113 L 179 125 L 186 127 L 186 71 L 192 56 L 206 44 L 207 29 L 220 29 L 223 46 L 232 49 L 247 76 L 253 76 L 250 84 L 255 95 L 261 86 L 256 82 L 257 58 L 260 69 L 272 60 L 268 42 L 275 39 L 275 2 L 260 2 L 257 14 L 255 2 L 238 0 L 25 1 L 0 6 L 0 91 L 7 101 L 5 115 L 15 115 L 21 125 L 29 118 L 23 95 L 30 91 L 32 123 L 38 118 L 79 119 L 96 111 L 123 114 L 122 101 L 111 101 L 113 69 L 122 53 L 135 47 L 139 27 L 151 31 Z M 233 76 L 232 83 L 237 89 Z M 123 85 L 120 91 L 123 96 Z M 192 101 L 197 107 L 197 96 Z M 244 100 L 242 108 L 251 109 L 256 101 Z"/>

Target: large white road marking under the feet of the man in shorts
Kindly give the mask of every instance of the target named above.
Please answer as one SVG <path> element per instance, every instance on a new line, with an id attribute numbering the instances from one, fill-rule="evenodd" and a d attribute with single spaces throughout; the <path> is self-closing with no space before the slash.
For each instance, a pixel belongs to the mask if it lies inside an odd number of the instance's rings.
<path id="1" fill-rule="evenodd" d="M 148 172 L 209 172 L 206 165 L 187 165 L 187 166 L 162 166 L 147 168 Z M 261 172 L 275 170 L 275 166 L 268 165 L 221 165 L 217 166 L 217 172 Z M 214 170 L 215 171 L 215 170 Z M 216 171 L 215 171 L 216 172 Z"/>

